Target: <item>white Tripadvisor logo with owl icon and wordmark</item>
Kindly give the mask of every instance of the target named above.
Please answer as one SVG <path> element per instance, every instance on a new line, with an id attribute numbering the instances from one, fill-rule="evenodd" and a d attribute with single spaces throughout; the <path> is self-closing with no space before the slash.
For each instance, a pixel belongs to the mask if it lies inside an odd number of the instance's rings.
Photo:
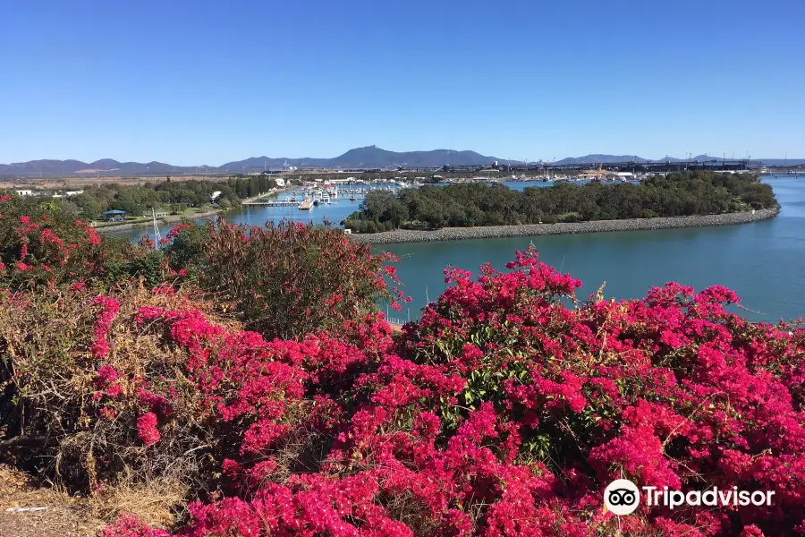
<path id="1" fill-rule="evenodd" d="M 642 487 L 645 494 L 646 505 L 665 506 L 671 509 L 680 506 L 691 507 L 746 507 L 771 506 L 774 490 L 738 490 L 719 489 L 713 487 L 708 490 L 669 490 L 668 487 Z M 631 515 L 640 506 L 640 490 L 637 485 L 628 479 L 616 479 L 609 483 L 604 490 L 604 505 L 615 515 Z"/>

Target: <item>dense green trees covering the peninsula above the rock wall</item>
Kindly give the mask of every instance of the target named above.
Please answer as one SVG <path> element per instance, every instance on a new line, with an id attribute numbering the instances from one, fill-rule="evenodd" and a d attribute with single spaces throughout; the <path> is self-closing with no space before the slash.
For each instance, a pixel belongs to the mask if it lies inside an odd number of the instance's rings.
<path id="1" fill-rule="evenodd" d="M 371 191 L 343 226 L 355 233 L 375 233 L 722 214 L 776 204 L 771 186 L 753 175 L 688 171 L 657 175 L 640 184 L 559 183 L 522 192 L 501 183 Z"/>

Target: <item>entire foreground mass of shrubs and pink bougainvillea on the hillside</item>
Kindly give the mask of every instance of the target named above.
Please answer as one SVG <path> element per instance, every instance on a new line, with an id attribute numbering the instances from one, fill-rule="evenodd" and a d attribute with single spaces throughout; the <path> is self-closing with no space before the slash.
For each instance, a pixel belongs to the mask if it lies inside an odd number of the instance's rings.
<path id="1" fill-rule="evenodd" d="M 447 268 L 394 334 L 394 259 L 338 230 L 219 220 L 155 251 L 17 198 L 0 215 L 0 462 L 148 500 L 105 537 L 805 529 L 805 329 L 726 311 L 724 287 L 583 300 L 530 249 Z M 617 517 L 614 478 L 775 497 Z"/>

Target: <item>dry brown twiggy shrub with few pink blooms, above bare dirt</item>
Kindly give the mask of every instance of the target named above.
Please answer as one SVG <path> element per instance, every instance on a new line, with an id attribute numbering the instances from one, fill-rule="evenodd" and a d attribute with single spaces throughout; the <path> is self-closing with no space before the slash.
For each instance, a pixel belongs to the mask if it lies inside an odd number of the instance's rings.
<path id="1" fill-rule="evenodd" d="M 141 308 L 188 308 L 168 287 L 0 296 L 0 422 L 18 465 L 89 493 L 172 474 L 198 485 L 213 441 L 187 356 Z M 187 453 L 186 453 L 187 452 Z"/>

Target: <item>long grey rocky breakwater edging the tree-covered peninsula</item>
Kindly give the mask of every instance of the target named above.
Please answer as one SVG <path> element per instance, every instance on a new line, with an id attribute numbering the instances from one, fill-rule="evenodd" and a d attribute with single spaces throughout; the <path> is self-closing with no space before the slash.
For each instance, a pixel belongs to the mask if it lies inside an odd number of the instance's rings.
<path id="1" fill-rule="evenodd" d="M 431 231 L 397 229 L 373 234 L 351 234 L 350 239 L 356 243 L 372 244 L 424 243 L 428 241 L 499 239 L 549 234 L 670 229 L 674 227 L 733 226 L 775 217 L 779 212 L 779 208 L 774 208 L 692 217 L 631 218 L 561 224 L 525 224 L 521 226 L 443 227 Z"/>

